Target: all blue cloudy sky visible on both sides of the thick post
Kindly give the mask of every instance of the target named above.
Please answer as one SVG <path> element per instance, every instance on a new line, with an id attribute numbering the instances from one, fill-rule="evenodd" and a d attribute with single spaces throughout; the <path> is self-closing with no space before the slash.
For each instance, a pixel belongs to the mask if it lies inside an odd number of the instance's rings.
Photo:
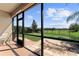
<path id="1" fill-rule="evenodd" d="M 74 12 L 79 11 L 79 4 L 64 3 L 45 3 L 44 4 L 44 28 L 69 28 L 72 20 L 67 23 L 67 17 Z M 35 20 L 38 28 L 41 27 L 41 5 L 38 4 L 33 8 L 25 11 L 25 27 L 31 27 L 32 21 Z M 21 25 L 21 21 L 20 21 Z"/>

